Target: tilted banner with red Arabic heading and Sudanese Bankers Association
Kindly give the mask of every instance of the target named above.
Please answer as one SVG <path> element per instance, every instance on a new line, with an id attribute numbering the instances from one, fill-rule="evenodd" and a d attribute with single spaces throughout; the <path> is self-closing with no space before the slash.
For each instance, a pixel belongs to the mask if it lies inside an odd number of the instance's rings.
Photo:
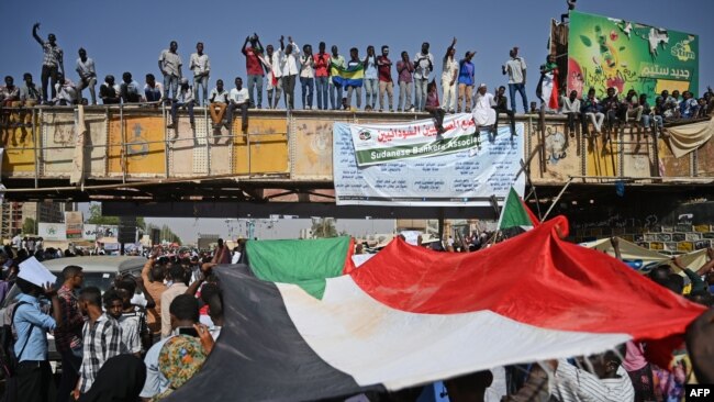
<path id="1" fill-rule="evenodd" d="M 350 124 L 358 166 L 453 154 L 475 148 L 476 124 L 470 113 L 444 118 L 445 133 L 437 135 L 433 119 L 408 123 Z"/>

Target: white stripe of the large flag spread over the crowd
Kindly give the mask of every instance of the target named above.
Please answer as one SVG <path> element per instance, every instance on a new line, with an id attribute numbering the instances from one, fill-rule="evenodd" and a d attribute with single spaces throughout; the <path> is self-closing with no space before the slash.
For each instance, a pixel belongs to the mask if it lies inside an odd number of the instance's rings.
<path id="1" fill-rule="evenodd" d="M 416 314 L 370 298 L 349 276 L 327 280 L 322 300 L 277 283 L 312 349 L 360 386 L 389 390 L 492 367 L 601 353 L 628 334 L 544 330 L 491 311 Z M 517 309 L 517 305 L 514 305 Z"/>

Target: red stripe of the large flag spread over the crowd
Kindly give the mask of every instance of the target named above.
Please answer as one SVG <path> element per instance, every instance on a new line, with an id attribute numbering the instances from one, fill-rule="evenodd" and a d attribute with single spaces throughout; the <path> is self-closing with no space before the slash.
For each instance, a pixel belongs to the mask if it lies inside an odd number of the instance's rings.
<path id="1" fill-rule="evenodd" d="M 543 328 L 636 339 L 683 334 L 704 311 L 603 253 L 560 239 L 557 233 L 567 231 L 558 216 L 470 254 L 397 239 L 350 276 L 373 299 L 402 311 L 490 310 Z"/>

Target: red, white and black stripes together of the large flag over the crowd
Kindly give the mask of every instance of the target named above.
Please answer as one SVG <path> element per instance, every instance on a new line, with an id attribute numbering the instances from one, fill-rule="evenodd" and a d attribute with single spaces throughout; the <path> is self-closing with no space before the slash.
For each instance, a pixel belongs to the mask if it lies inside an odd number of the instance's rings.
<path id="1" fill-rule="evenodd" d="M 666 360 L 704 308 L 567 243 L 556 217 L 471 254 L 390 243 L 360 268 L 295 283 L 219 268 L 225 326 L 169 401 L 314 401 L 647 340 Z"/>

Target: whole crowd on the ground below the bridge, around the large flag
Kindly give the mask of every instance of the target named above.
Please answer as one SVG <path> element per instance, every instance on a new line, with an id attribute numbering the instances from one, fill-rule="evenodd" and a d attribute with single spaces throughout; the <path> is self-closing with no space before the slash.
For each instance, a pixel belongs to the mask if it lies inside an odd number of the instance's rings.
<path id="1" fill-rule="evenodd" d="M 488 244 L 488 235 L 457 236 L 440 247 L 421 244 L 417 238 L 417 246 L 443 252 L 469 253 Z M 622 259 L 617 239 L 612 244 Z M 100 401 L 108 395 L 115 398 L 112 401 L 158 401 L 167 397 L 201 369 L 224 325 L 222 294 L 230 290 L 221 288 L 213 268 L 237 264 L 245 255 L 244 242 L 231 250 L 219 239 L 209 253 L 176 254 L 159 246 L 148 254 L 140 275 L 120 275 L 109 289 L 85 286 L 80 265 L 67 266 L 62 287 L 55 289 L 51 283 L 38 287 L 18 278 L 18 264 L 29 255 L 25 247 L 27 242 L 4 248 L 4 258 L 12 263 L 3 272 L 3 294 L 12 284 L 20 289 L 16 300 L 4 303 L 5 316 L 16 333 L 12 348 L 19 361 L 8 372 L 7 391 L 14 392 L 9 401 Z M 362 245 L 356 246 L 357 254 L 362 249 Z M 668 265 L 657 266 L 647 276 L 711 308 L 714 249 L 709 249 L 707 256 L 709 263 L 696 271 L 681 258 L 673 258 L 685 277 Z M 629 342 L 604 354 L 578 358 L 574 365 L 561 359 L 509 366 L 447 380 L 446 389 L 455 402 L 483 400 L 494 376 L 502 376 L 507 379 L 502 401 L 589 400 L 585 397 L 623 402 L 681 401 L 684 384 L 694 378 L 700 382 L 714 380 L 714 357 L 705 351 L 711 349 L 711 338 L 706 339 L 713 331 L 712 311 L 706 314 L 692 324 L 688 345 L 678 348 L 680 355 L 689 351 L 689 358 L 678 358 L 671 368 L 647 361 L 646 343 Z M 56 386 L 48 362 L 47 333 L 53 333 L 62 356 L 62 377 Z M 549 382 L 554 375 L 556 381 Z M 398 395 L 414 400 L 416 397 L 409 395 L 419 392 L 404 390 Z M 397 395 L 368 393 L 365 398 L 389 401 Z"/>

